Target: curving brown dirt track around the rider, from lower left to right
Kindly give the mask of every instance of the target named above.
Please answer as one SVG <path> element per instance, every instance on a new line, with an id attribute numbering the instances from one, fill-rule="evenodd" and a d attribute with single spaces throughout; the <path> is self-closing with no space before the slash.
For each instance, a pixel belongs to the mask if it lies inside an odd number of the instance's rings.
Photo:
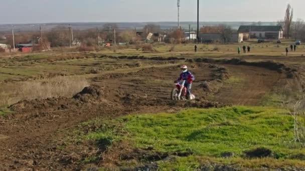
<path id="1" fill-rule="evenodd" d="M 173 81 L 179 75 L 178 64 L 94 77 L 94 86 L 73 98 L 20 102 L 13 106 L 15 114 L 0 119 L 0 169 L 72 169 L 75 165 L 61 162 L 67 153 L 58 146 L 64 145 L 66 132 L 83 121 L 188 106 L 221 106 L 218 102 L 255 105 L 282 78 L 281 73 L 262 67 L 203 62 L 189 65 L 197 78 L 193 92 L 199 98 L 192 103 L 169 100 Z M 238 81 L 227 80 L 229 76 Z M 217 88 L 202 88 L 204 80 Z"/>

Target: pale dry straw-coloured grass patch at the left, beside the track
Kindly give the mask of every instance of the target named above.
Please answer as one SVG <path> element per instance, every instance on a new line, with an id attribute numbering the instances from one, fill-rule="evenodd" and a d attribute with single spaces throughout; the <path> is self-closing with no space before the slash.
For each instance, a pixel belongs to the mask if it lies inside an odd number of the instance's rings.
<path id="1" fill-rule="evenodd" d="M 14 104 L 24 99 L 73 96 L 89 82 L 82 76 L 58 76 L 35 81 L 3 84 L 0 88 L 0 106 Z"/>

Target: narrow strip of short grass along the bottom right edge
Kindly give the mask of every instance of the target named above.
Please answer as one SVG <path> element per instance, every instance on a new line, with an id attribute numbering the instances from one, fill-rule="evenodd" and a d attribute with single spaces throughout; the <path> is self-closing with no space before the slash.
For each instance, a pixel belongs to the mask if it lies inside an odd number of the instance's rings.
<path id="1" fill-rule="evenodd" d="M 167 161 L 158 161 L 160 170 L 215 170 L 215 168 L 231 168 L 231 170 L 260 170 L 266 168 L 303 168 L 305 162 L 302 160 L 274 159 L 274 158 L 215 158 L 206 156 L 174 157 Z M 230 169 L 227 169 L 230 170 Z M 289 170 L 289 169 L 288 169 Z"/>

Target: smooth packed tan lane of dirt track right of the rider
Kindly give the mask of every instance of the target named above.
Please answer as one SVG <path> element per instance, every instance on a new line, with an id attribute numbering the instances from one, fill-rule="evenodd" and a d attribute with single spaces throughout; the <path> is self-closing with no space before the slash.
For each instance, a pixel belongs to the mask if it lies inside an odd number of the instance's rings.
<path id="1" fill-rule="evenodd" d="M 231 78 L 215 94 L 215 100 L 234 105 L 259 105 L 282 77 L 277 71 L 262 67 L 224 65 Z"/>

